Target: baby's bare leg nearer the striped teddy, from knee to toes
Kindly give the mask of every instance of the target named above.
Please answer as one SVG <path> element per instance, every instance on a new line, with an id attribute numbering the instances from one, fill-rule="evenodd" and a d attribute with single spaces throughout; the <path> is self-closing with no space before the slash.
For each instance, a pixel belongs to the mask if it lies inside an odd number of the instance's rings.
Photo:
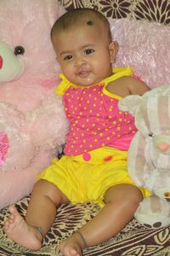
<path id="1" fill-rule="evenodd" d="M 110 239 L 121 231 L 133 218 L 143 195 L 130 184 L 119 184 L 105 193 L 105 207 L 71 237 L 59 245 L 65 256 L 82 255 L 82 248 L 92 247 Z"/>

